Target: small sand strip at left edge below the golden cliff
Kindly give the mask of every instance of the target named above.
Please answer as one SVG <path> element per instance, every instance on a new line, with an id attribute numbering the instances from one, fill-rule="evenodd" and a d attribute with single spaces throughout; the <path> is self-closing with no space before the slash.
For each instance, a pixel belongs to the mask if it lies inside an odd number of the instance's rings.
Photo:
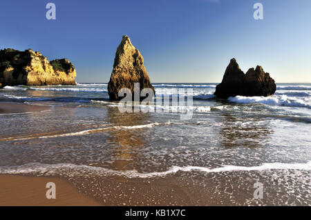
<path id="1" fill-rule="evenodd" d="M 24 103 L 0 102 L 0 114 L 41 112 L 48 110 L 49 106 L 27 105 Z"/>

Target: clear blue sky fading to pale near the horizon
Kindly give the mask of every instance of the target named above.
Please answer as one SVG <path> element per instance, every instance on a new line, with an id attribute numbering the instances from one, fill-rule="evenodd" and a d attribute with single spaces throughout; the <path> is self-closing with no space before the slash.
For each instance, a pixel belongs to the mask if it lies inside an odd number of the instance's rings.
<path id="1" fill-rule="evenodd" d="M 244 72 L 261 65 L 276 82 L 311 83 L 310 0 L 1 0 L 0 27 L 1 49 L 66 57 L 78 82 L 108 82 L 128 34 L 154 83 L 220 82 L 232 57 Z"/>

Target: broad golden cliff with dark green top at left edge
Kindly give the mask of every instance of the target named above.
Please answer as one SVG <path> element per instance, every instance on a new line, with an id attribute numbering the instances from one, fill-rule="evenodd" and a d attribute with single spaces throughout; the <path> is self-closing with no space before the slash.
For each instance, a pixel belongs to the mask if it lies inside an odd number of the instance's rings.
<path id="1" fill-rule="evenodd" d="M 2 86 L 75 85 L 75 67 L 68 59 L 48 61 L 40 52 L 0 50 Z"/>

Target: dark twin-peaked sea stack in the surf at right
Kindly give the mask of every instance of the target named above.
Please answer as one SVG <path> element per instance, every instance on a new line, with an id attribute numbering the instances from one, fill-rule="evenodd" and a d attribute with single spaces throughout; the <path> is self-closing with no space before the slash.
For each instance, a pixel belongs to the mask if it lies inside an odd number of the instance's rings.
<path id="1" fill-rule="evenodd" d="M 228 98 L 237 95 L 246 97 L 262 96 L 267 97 L 276 91 L 276 84 L 270 74 L 263 71 L 261 66 L 256 69 L 250 68 L 246 74 L 236 63 L 236 59 L 231 59 L 229 66 L 223 76 L 223 81 L 216 86 L 217 97 Z"/>

